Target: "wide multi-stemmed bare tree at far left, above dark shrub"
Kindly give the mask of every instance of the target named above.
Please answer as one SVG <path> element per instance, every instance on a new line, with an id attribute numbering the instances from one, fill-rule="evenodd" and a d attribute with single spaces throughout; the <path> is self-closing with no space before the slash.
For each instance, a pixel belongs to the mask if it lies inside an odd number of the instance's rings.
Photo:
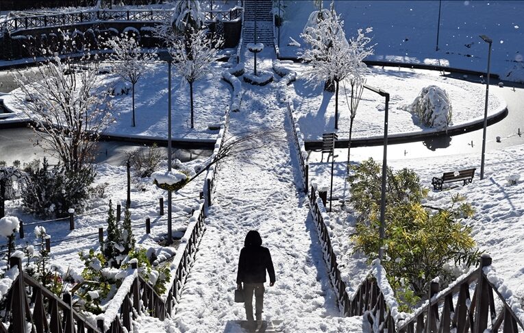
<path id="1" fill-rule="evenodd" d="M 94 159 L 99 133 L 110 121 L 108 91 L 101 87 L 98 67 L 96 58 L 60 59 L 55 53 L 38 62 L 36 81 L 15 75 L 42 147 L 71 174 L 84 167 L 92 170 L 88 164 Z"/>

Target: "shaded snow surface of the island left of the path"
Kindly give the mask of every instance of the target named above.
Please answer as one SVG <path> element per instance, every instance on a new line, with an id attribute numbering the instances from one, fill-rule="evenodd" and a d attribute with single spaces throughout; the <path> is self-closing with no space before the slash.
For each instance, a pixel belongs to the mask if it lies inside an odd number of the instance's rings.
<path id="1" fill-rule="evenodd" d="M 110 66 L 110 64 L 108 64 Z M 215 140 L 216 130 L 210 130 L 219 123 L 224 110 L 229 107 L 229 87 L 222 81 L 221 64 L 214 64 L 213 71 L 194 86 L 195 128 L 190 128 L 189 85 L 182 77 L 172 77 L 172 133 L 173 140 Z M 121 85 L 122 80 L 114 74 L 104 74 L 102 84 L 110 89 Z M 111 123 L 104 134 L 136 138 L 167 138 L 168 119 L 168 77 L 167 65 L 149 65 L 149 72 L 138 81 L 135 87 L 136 127 L 132 127 L 132 92 L 114 96 L 111 99 Z M 13 116 L 25 118 L 25 95 L 15 89 L 10 95 L 1 96 Z M 20 115 L 20 116 L 19 116 Z M 12 118 L 12 117 L 10 117 Z"/>

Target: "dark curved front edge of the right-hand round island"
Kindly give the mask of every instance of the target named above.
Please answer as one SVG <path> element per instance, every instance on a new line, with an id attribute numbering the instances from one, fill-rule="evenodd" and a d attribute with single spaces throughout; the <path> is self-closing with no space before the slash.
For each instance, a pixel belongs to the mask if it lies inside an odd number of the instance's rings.
<path id="1" fill-rule="evenodd" d="M 508 116 L 508 108 L 503 108 L 495 114 L 488 116 L 488 126 L 498 123 Z M 412 132 L 412 133 L 396 133 L 388 135 L 388 145 L 395 143 L 413 143 L 423 140 L 456 136 L 459 134 L 469 133 L 480 130 L 484 127 L 484 118 L 456 125 L 444 131 L 427 131 L 427 132 Z M 336 141 L 335 148 L 347 148 L 348 139 L 341 139 Z M 351 147 L 368 147 L 368 146 L 382 146 L 384 143 L 384 136 L 372 136 L 370 138 L 355 138 L 351 140 Z M 305 150 L 322 149 L 322 140 L 305 140 Z"/>

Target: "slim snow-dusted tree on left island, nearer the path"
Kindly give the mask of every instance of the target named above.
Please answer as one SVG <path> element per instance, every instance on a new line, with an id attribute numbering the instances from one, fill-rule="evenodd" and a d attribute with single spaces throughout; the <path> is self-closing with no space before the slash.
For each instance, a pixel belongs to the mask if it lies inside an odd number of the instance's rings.
<path id="1" fill-rule="evenodd" d="M 170 42 L 169 53 L 177 73 L 189 84 L 191 128 L 194 127 L 193 84 L 210 73 L 212 63 L 217 60 L 222 40 L 212 40 L 205 28 L 187 27 L 184 38 Z"/>

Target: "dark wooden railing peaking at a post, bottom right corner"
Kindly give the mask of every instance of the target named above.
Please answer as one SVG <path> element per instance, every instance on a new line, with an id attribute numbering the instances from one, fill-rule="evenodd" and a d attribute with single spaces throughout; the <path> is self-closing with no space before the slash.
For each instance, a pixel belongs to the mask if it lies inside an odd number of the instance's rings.
<path id="1" fill-rule="evenodd" d="M 511 293 L 490 267 L 491 261 L 484 254 L 478 269 L 443 291 L 438 291 L 438 282 L 432 282 L 429 300 L 409 318 L 399 321 L 398 332 L 483 333 L 502 328 L 504 333 L 517 333 L 517 325 L 524 330 L 524 310 L 518 300 L 507 296 Z M 470 297 L 473 284 L 475 289 Z M 495 299 L 501 306 L 499 310 Z"/>

